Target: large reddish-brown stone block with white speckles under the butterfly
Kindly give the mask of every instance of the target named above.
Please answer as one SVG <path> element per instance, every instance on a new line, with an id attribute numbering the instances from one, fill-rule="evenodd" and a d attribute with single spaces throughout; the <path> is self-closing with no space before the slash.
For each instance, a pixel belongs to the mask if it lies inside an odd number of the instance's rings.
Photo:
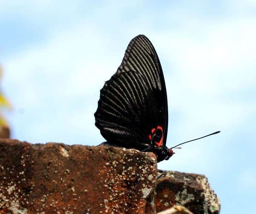
<path id="1" fill-rule="evenodd" d="M 155 213 L 156 165 L 134 149 L 0 139 L 0 213 Z"/>

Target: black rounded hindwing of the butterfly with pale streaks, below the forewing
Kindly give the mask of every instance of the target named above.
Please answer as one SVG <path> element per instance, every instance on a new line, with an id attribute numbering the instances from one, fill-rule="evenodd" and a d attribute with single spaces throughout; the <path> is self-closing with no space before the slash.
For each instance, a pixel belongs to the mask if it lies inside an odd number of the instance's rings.
<path id="1" fill-rule="evenodd" d="M 155 125 L 157 106 L 154 96 L 141 84 L 143 79 L 137 72 L 122 72 L 102 88 L 95 124 L 108 142 L 142 149 L 150 143 L 145 133 Z"/>

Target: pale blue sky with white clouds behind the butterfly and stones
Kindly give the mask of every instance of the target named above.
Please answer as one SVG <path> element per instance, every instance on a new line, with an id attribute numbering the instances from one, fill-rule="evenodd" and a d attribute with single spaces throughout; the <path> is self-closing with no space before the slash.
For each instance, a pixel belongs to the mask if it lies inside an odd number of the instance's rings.
<path id="1" fill-rule="evenodd" d="M 129 41 L 153 43 L 166 80 L 167 145 L 159 168 L 205 174 L 221 213 L 254 204 L 256 1 L 0 1 L 2 90 L 12 138 L 97 145 L 99 90 Z M 256 213 L 251 207 L 247 213 Z"/>

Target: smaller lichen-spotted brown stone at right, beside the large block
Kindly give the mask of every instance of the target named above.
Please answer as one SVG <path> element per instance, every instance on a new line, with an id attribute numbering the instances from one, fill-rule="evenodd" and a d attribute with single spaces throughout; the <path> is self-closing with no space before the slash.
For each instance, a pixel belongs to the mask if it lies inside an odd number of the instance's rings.
<path id="1" fill-rule="evenodd" d="M 168 171 L 157 181 L 157 212 L 183 205 L 195 214 L 218 214 L 220 200 L 204 175 Z"/>

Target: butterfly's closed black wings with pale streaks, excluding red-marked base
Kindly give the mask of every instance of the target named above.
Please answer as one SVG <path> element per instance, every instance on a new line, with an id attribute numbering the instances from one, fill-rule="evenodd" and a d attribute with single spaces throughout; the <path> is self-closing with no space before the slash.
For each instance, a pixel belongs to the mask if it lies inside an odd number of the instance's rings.
<path id="1" fill-rule="evenodd" d="M 168 107 L 157 53 L 144 35 L 129 43 L 116 73 L 100 91 L 95 125 L 109 142 L 143 150 L 153 127 L 163 127 L 166 144 Z"/>

